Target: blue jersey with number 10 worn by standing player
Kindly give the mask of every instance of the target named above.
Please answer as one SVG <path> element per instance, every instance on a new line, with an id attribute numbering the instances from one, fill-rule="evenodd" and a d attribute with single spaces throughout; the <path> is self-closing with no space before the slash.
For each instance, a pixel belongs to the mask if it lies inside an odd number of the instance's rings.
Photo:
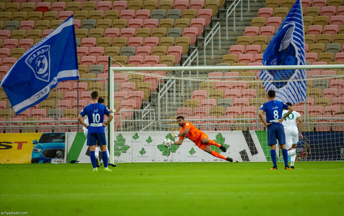
<path id="1" fill-rule="evenodd" d="M 88 133 L 105 133 L 103 126 L 104 114 L 109 115 L 111 112 L 103 104 L 90 104 L 87 105 L 80 115 L 83 117 L 87 114 L 88 118 Z"/>

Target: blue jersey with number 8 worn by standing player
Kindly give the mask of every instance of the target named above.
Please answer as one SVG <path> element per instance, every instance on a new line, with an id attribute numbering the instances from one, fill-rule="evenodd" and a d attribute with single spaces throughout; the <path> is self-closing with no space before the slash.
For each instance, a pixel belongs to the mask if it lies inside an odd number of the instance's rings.
<path id="1" fill-rule="evenodd" d="M 282 118 L 283 109 L 288 109 L 289 105 L 284 104 L 278 100 L 270 100 L 263 105 L 260 109 L 266 113 L 266 122 L 282 125 L 278 123 L 278 120 Z"/>

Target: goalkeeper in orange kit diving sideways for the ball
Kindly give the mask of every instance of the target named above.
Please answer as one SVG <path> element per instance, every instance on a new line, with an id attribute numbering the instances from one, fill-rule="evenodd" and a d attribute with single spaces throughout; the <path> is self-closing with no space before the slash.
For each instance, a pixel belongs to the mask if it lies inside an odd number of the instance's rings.
<path id="1" fill-rule="evenodd" d="M 226 152 L 226 148 L 213 140 L 209 140 L 209 137 L 206 133 L 198 130 L 195 126 L 192 125 L 191 122 L 185 121 L 183 116 L 177 117 L 177 123 L 180 127 L 182 127 L 179 131 L 179 134 L 175 134 L 171 131 L 172 137 L 179 137 L 179 141 L 171 141 L 171 144 L 181 145 L 183 143 L 184 137 L 189 138 L 192 142 L 194 142 L 198 148 L 202 149 L 205 152 L 213 155 L 216 158 L 221 158 L 223 160 L 233 162 L 232 158 L 222 156 L 221 154 L 213 151 L 209 145 L 216 145 L 220 148 L 223 152 Z"/>

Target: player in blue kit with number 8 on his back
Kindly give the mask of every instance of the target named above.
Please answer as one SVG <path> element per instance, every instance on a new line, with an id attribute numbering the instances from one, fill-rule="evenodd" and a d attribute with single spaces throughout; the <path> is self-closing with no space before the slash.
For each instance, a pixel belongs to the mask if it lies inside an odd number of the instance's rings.
<path id="1" fill-rule="evenodd" d="M 276 144 L 280 145 L 282 149 L 282 155 L 284 160 L 284 169 L 291 170 L 288 166 L 288 151 L 286 149 L 286 137 L 284 134 L 284 128 L 282 122 L 285 118 L 291 114 L 293 108 L 291 106 L 284 104 L 281 101 L 275 100 L 276 93 L 275 90 L 268 90 L 269 101 L 264 103 L 259 110 L 259 118 L 264 123 L 268 130 L 268 145 L 270 146 L 270 154 L 273 162 L 273 168 L 270 170 L 277 170 L 276 163 Z M 283 109 L 288 110 L 287 114 L 282 117 Z M 266 121 L 263 117 L 263 112 L 266 113 Z"/>

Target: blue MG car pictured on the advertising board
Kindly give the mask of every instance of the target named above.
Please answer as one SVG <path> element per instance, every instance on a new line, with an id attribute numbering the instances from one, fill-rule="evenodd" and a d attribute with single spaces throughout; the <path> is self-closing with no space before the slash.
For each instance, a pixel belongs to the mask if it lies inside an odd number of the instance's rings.
<path id="1" fill-rule="evenodd" d="M 31 163 L 50 163 L 52 159 L 64 159 L 65 133 L 43 133 L 34 144 Z"/>

